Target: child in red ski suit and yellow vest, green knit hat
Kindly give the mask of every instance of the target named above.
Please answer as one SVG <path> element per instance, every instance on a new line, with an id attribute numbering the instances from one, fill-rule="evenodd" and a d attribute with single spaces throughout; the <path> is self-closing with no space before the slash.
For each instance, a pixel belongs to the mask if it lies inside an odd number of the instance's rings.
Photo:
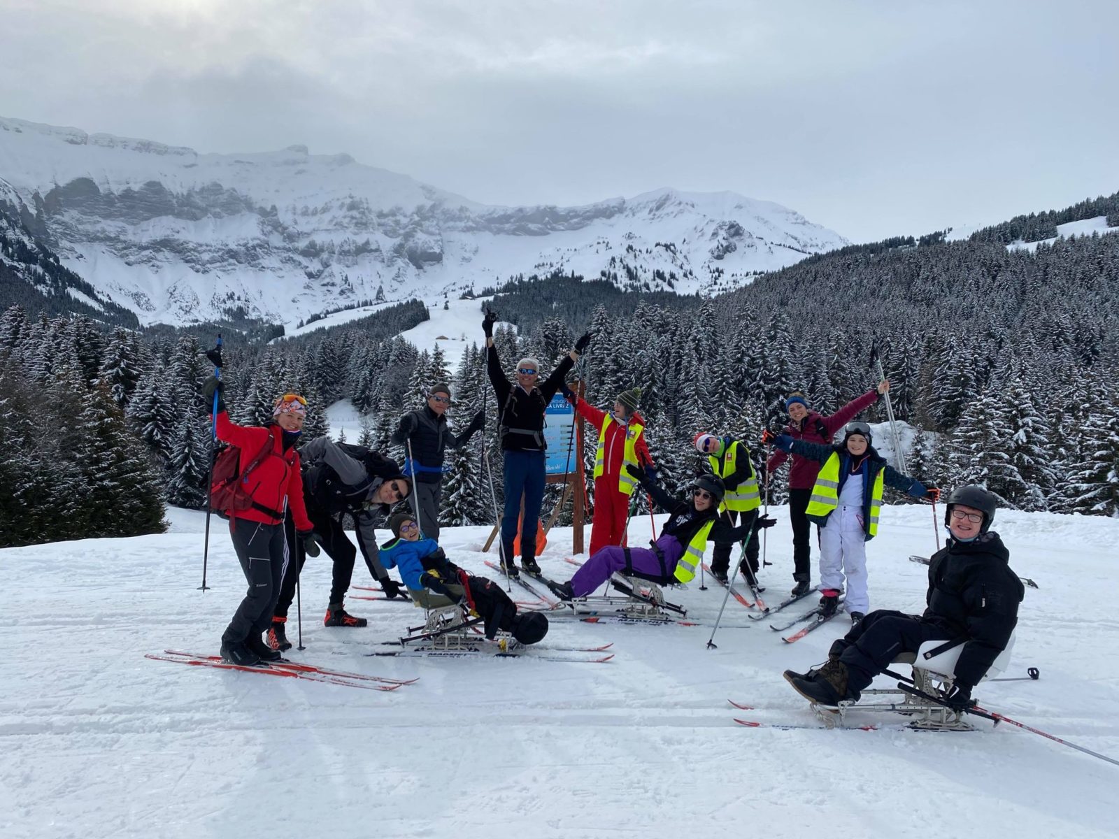
<path id="1" fill-rule="evenodd" d="M 599 432 L 594 455 L 594 524 L 591 526 L 591 556 L 610 545 L 626 546 L 626 521 L 630 496 L 637 481 L 623 470 L 626 463 L 642 464 L 649 480 L 656 469 L 645 442 L 645 420 L 637 413 L 641 388 L 626 390 L 614 399 L 614 409 L 599 411 L 575 396 L 567 386 L 563 395 L 575 405 L 575 413 Z M 629 454 L 629 458 L 627 458 Z"/>

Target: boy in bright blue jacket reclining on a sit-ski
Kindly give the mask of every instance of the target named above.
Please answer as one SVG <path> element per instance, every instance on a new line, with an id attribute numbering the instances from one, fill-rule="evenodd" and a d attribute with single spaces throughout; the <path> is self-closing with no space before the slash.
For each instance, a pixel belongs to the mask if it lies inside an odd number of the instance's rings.
<path id="1" fill-rule="evenodd" d="M 396 513 L 388 525 L 396 538 L 382 546 L 382 563 L 399 569 L 417 605 L 463 606 L 482 619 L 489 641 L 498 630 L 513 633 L 523 644 L 534 644 L 547 634 L 547 618 L 539 612 L 518 614 L 517 604 L 493 581 L 468 574 L 446 558 L 434 539 L 421 539 L 411 512 Z"/>

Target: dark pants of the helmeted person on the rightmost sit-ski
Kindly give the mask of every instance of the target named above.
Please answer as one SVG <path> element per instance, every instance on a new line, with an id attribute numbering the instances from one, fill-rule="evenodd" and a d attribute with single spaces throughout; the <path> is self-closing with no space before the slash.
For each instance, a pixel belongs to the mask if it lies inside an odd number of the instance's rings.
<path id="1" fill-rule="evenodd" d="M 863 690 L 903 652 L 916 652 L 925 641 L 948 641 L 951 631 L 920 615 L 880 609 L 833 642 L 829 657 L 847 666 L 848 690 Z"/>

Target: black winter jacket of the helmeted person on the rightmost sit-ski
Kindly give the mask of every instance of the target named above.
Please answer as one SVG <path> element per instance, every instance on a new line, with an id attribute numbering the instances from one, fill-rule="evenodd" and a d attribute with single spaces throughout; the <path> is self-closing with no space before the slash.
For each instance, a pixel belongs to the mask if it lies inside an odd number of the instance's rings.
<path id="1" fill-rule="evenodd" d="M 922 618 L 967 639 L 956 664 L 957 684 L 979 684 L 1006 649 L 1026 590 L 1007 564 L 1009 552 L 988 531 L 974 541 L 949 539 L 929 562 L 929 607 Z"/>

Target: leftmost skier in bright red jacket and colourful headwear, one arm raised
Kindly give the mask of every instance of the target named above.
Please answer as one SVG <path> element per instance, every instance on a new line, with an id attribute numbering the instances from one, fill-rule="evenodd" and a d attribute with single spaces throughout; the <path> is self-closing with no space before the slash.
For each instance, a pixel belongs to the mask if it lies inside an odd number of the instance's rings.
<path id="1" fill-rule="evenodd" d="M 295 531 L 308 553 L 318 554 L 313 526 L 303 505 L 303 479 L 300 475 L 295 443 L 307 417 L 307 400 L 295 394 L 284 394 L 272 407 L 273 422 L 267 426 L 235 425 L 225 411 L 222 381 L 206 381 L 207 404 L 214 404 L 217 393 L 215 426 L 218 440 L 241 450 L 238 474 L 261 452 L 265 456 L 248 474 L 243 475 L 238 492 L 250 499 L 246 509 L 224 511 L 229 519 L 229 536 L 248 582 L 248 591 L 237 606 L 229 625 L 222 634 L 222 658 L 234 664 L 254 666 L 262 660 L 274 661 L 280 652 L 264 642 L 262 634 L 272 624 L 272 612 L 280 597 L 280 583 L 288 566 L 289 546 L 284 539 L 284 510 L 290 509 Z"/>

